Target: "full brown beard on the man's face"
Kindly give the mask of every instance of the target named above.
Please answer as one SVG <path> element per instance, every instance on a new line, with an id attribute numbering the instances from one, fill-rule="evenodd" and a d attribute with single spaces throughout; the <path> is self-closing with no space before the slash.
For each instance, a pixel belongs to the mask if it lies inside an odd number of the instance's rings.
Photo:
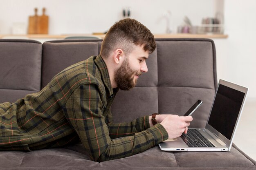
<path id="1" fill-rule="evenodd" d="M 141 71 L 134 71 L 130 68 L 128 60 L 126 59 L 120 68 L 115 72 L 115 82 L 117 83 L 117 87 L 121 90 L 128 91 L 131 88 L 135 87 L 137 84 L 137 79 L 134 79 L 135 75 L 141 75 Z"/>

